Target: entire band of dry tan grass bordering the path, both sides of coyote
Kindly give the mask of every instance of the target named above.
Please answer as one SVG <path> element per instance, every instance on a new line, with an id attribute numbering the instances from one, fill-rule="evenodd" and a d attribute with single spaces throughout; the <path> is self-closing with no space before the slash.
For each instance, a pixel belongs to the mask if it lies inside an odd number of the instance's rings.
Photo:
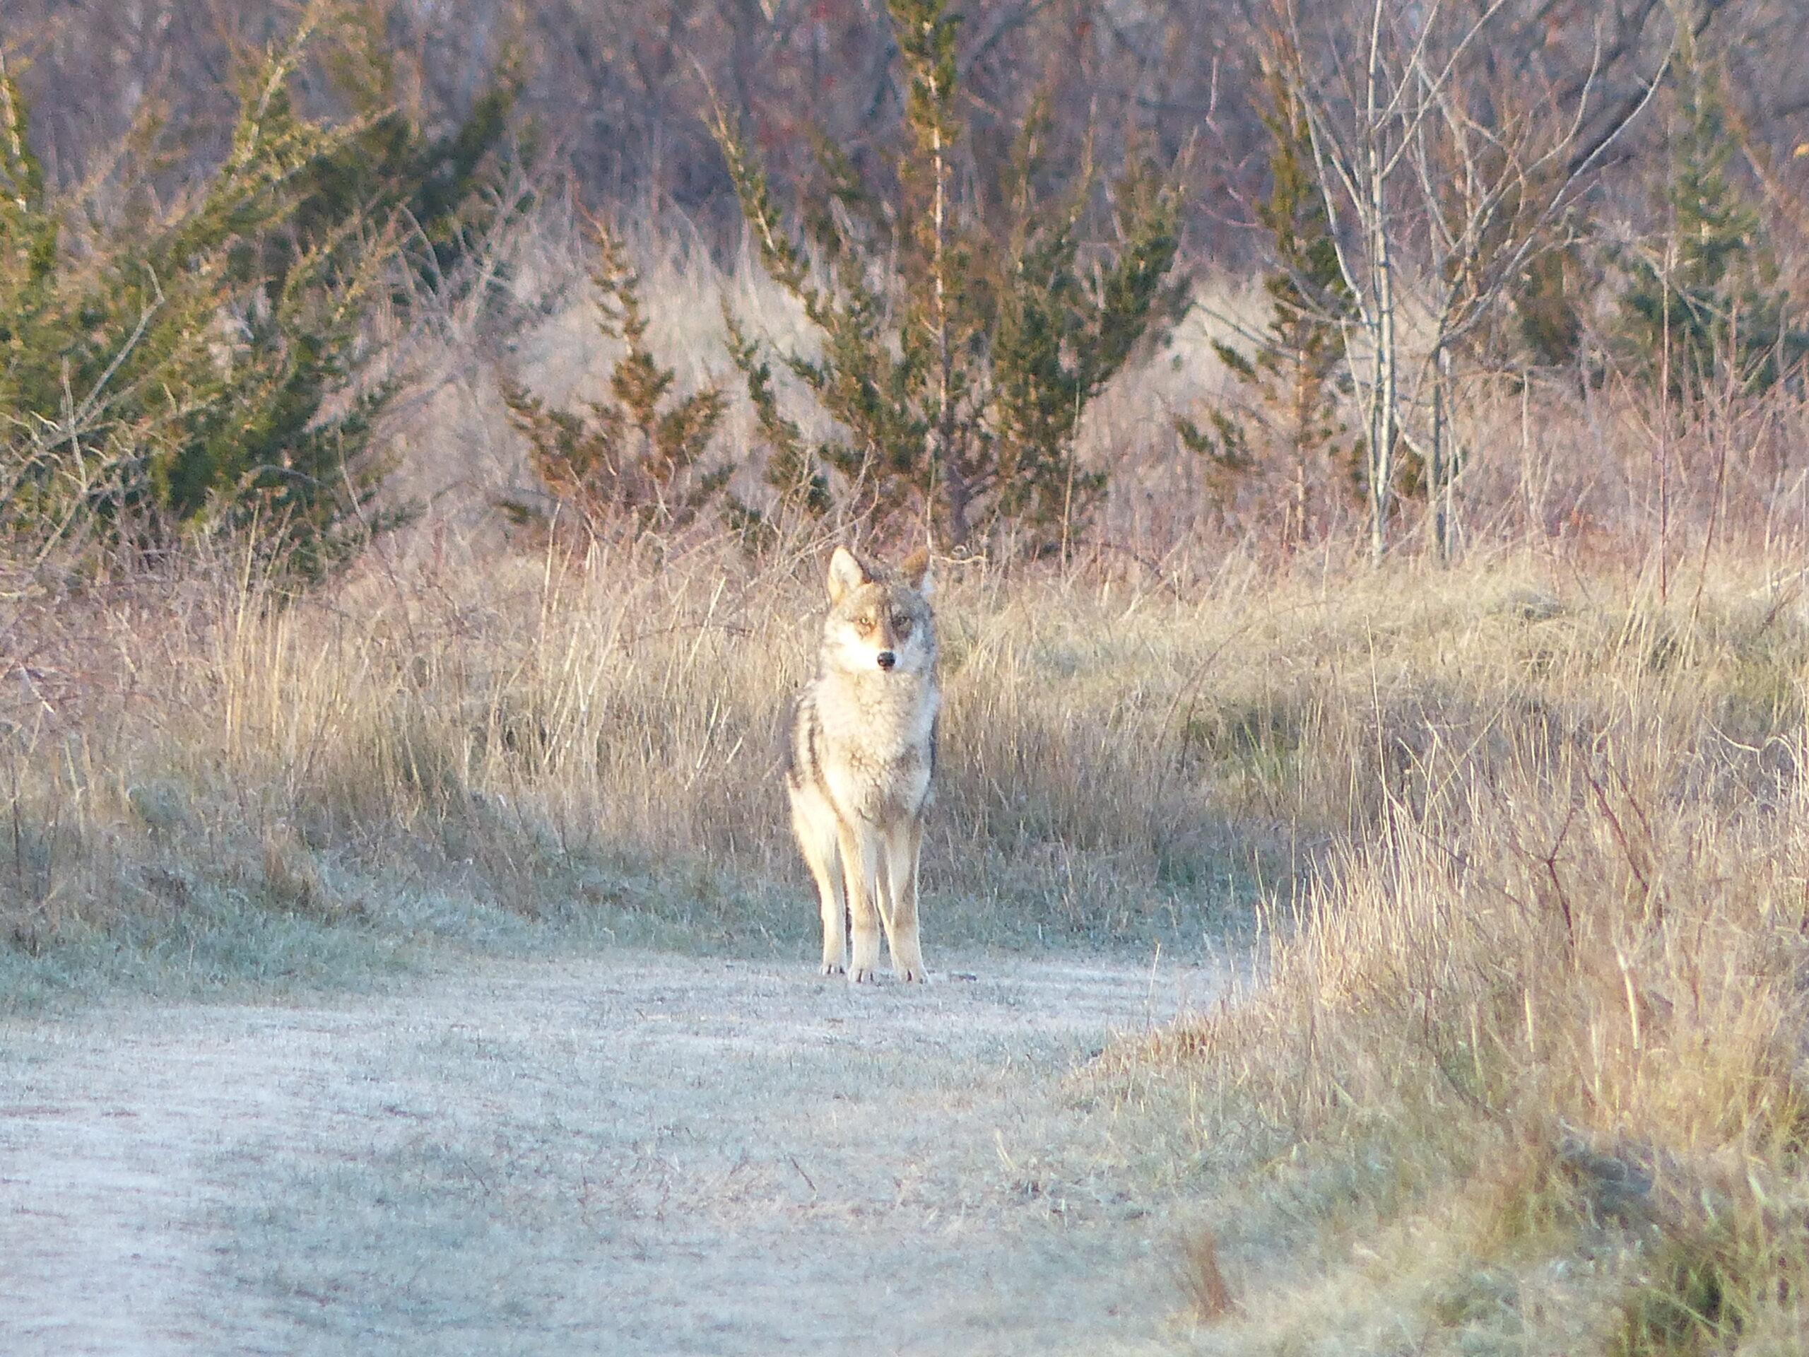
<path id="1" fill-rule="evenodd" d="M 9 973 L 344 982 L 512 917 L 803 968 L 772 733 L 819 557 L 421 552 L 284 606 L 232 561 L 18 575 Z M 1174 946 L 1261 896 L 1259 982 L 1100 1082 L 1214 1210 L 1189 1343 L 1789 1350 L 1800 575 L 1315 565 L 944 563 L 932 939 Z"/>

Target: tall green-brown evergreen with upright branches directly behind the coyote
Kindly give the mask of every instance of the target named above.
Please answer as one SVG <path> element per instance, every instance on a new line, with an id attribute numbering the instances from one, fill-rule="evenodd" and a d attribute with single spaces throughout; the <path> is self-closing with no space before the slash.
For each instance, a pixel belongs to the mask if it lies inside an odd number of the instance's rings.
<path id="1" fill-rule="evenodd" d="M 1047 121 L 1033 114 L 999 194 L 1006 219 L 984 221 L 955 192 L 959 18 L 944 0 L 892 0 L 890 14 L 906 83 L 901 145 L 863 174 L 821 143 L 803 242 L 715 110 L 762 264 L 821 333 L 819 356 L 783 360 L 845 431 L 810 458 L 836 476 L 848 512 L 881 530 L 917 519 L 968 545 L 1009 525 L 1033 550 L 1055 546 L 1103 494 L 1103 474 L 1075 463 L 1087 402 L 1174 311 L 1174 192 L 1132 154 L 1113 185 L 1118 248 L 1082 268 L 1096 181 L 1087 170 L 1067 201 L 1037 199 Z"/>

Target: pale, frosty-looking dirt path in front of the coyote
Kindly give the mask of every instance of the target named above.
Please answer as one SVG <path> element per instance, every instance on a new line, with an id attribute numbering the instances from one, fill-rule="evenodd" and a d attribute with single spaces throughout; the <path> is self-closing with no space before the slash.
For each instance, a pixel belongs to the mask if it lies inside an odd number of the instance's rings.
<path id="1" fill-rule="evenodd" d="M 975 970 L 619 954 L 4 1022 L 0 1352 L 1169 1346 L 1163 1189 L 1062 1077 L 1212 973 Z"/>

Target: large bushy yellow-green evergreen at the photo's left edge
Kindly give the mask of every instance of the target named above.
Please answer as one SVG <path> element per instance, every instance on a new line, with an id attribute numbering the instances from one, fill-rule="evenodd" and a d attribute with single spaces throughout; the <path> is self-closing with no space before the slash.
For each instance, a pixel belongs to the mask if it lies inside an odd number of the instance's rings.
<path id="1" fill-rule="evenodd" d="M 226 159 L 174 210 L 145 186 L 156 127 L 121 156 L 114 219 L 51 192 L 0 71 L 5 530 L 145 548 L 255 532 L 280 568 L 315 577 L 393 521 L 371 508 L 373 423 L 391 387 L 362 378 L 360 351 L 393 279 L 396 221 L 431 166 L 373 168 L 371 118 L 297 110 L 291 83 L 333 18 L 309 9 L 241 74 Z M 487 154 L 497 138 L 485 123 Z M 364 170 L 342 172 L 353 165 Z M 72 230 L 81 239 L 65 241 Z"/>

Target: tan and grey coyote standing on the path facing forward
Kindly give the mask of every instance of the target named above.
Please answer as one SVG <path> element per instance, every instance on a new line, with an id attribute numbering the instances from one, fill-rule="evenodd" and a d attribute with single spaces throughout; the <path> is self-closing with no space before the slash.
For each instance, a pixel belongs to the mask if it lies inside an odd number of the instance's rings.
<path id="1" fill-rule="evenodd" d="M 838 546 L 816 678 L 792 704 L 785 740 L 792 830 L 823 899 L 825 975 L 847 970 L 850 981 L 872 981 L 883 921 L 894 973 L 928 979 L 917 943 L 917 852 L 941 706 L 930 552 L 888 570 Z"/>

